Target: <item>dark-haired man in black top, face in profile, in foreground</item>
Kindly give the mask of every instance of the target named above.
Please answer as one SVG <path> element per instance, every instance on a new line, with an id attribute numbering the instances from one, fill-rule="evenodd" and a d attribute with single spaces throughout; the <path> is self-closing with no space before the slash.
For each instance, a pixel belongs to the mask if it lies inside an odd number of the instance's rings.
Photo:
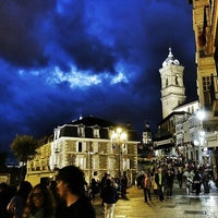
<path id="1" fill-rule="evenodd" d="M 95 210 L 85 195 L 84 172 L 75 166 L 66 166 L 57 174 L 57 189 L 65 206 L 57 218 L 95 218 Z"/>

